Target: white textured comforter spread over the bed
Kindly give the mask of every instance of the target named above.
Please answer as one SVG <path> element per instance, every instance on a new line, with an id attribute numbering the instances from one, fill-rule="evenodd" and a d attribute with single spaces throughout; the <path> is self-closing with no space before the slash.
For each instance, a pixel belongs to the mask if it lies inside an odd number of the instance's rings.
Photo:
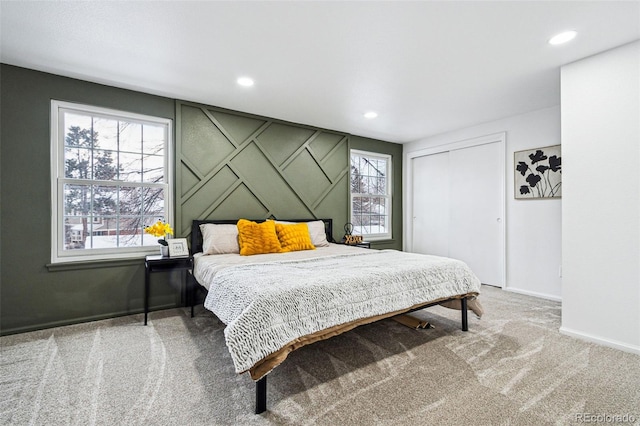
<path id="1" fill-rule="evenodd" d="M 204 306 L 227 325 L 236 372 L 335 325 L 480 291 L 458 260 L 395 250 L 342 253 L 222 268 L 206 262 L 198 268 L 196 261 L 196 278 L 209 288 Z"/>

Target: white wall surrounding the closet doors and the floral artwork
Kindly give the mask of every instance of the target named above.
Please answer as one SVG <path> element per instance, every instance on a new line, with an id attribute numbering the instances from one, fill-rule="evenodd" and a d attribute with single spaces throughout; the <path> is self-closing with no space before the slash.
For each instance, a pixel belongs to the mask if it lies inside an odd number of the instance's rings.
<path id="1" fill-rule="evenodd" d="M 422 149 L 506 132 L 506 285 L 505 290 L 560 300 L 562 297 L 560 199 L 515 200 L 513 153 L 560 143 L 560 107 L 508 117 L 404 145 L 408 154 Z M 406 175 L 405 175 L 405 185 Z M 564 189 L 563 189 L 564 192 Z M 403 194 L 404 200 L 411 198 Z M 404 223 L 410 214 L 405 209 Z M 405 234 L 404 240 L 410 238 Z"/>

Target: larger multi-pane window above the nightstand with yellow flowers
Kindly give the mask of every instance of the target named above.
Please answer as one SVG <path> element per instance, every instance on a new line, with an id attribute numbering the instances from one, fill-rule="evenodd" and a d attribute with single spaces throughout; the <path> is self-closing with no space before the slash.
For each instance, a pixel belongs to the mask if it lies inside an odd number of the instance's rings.
<path id="1" fill-rule="evenodd" d="M 157 250 L 144 227 L 170 221 L 171 120 L 51 103 L 55 262 Z"/>

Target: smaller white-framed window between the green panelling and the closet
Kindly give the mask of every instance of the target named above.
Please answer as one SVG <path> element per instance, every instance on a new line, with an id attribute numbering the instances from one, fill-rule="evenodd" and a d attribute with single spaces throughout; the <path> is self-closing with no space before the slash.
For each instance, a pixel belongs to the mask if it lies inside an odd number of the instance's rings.
<path id="1" fill-rule="evenodd" d="M 391 238 L 391 156 L 351 150 L 351 223 L 366 240 Z"/>

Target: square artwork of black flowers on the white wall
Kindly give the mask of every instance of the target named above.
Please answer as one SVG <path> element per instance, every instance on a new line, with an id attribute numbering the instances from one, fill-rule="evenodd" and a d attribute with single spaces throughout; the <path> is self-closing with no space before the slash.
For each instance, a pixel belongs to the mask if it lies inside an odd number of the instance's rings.
<path id="1" fill-rule="evenodd" d="M 562 157 L 560 145 L 513 153 L 515 198 L 560 198 L 562 196 Z"/>

